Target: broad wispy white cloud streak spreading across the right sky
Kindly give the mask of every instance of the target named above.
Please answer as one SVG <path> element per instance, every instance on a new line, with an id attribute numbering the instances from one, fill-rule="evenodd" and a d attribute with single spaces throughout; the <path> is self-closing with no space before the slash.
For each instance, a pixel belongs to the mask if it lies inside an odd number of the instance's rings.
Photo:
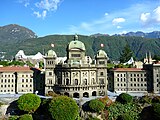
<path id="1" fill-rule="evenodd" d="M 87 35 L 98 32 L 115 34 L 126 33 L 126 31 L 153 31 L 158 26 L 149 26 L 144 29 L 142 23 L 153 24 L 153 19 L 156 23 L 160 22 L 160 7 L 155 6 L 158 6 L 157 2 L 137 2 L 125 9 L 110 11 L 109 14 L 107 12 L 103 13 L 102 17 L 95 18 L 92 21 L 82 21 L 79 25 L 72 24 L 67 32 L 75 33 L 75 30 L 76 33 Z"/>

